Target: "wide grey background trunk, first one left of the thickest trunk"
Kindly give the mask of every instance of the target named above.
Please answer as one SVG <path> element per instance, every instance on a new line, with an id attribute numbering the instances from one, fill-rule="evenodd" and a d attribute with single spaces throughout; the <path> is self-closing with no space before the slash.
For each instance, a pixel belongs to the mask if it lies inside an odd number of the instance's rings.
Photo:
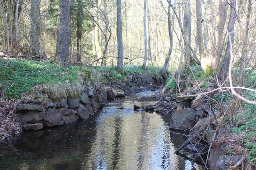
<path id="1" fill-rule="evenodd" d="M 30 29 L 31 55 L 40 55 L 40 0 L 31 0 L 31 29 Z"/>

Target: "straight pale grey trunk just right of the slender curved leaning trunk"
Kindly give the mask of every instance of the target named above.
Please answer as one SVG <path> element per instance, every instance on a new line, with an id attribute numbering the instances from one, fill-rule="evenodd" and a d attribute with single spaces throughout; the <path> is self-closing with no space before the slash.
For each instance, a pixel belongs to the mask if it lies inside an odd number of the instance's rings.
<path id="1" fill-rule="evenodd" d="M 190 0 L 184 0 L 184 18 L 183 18 L 183 29 L 188 41 L 185 43 L 185 59 L 186 64 L 190 64 L 190 50 L 188 49 L 188 44 L 191 44 L 191 9 L 190 9 Z"/>

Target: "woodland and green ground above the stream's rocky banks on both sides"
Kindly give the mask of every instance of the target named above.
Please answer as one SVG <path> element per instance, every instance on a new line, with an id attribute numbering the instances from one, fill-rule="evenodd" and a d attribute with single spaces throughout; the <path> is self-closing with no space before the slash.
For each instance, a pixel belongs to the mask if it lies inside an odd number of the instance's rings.
<path id="1" fill-rule="evenodd" d="M 94 66 L 118 81 L 170 70 L 166 87 L 209 94 L 211 109 L 223 115 L 220 126 L 229 128 L 224 140 L 234 153 L 246 148 L 241 162 L 255 167 L 255 0 L 0 0 L 0 14 L 0 92 L 7 99 L 36 84 L 75 81 Z"/>

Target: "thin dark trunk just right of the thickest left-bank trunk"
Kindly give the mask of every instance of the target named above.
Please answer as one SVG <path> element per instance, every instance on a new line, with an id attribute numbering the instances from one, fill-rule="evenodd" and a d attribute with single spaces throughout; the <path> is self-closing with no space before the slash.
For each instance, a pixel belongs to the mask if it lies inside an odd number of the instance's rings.
<path id="1" fill-rule="evenodd" d="M 83 7 L 82 0 L 77 0 L 78 11 L 77 11 L 77 62 L 82 61 L 82 23 L 83 23 Z"/>

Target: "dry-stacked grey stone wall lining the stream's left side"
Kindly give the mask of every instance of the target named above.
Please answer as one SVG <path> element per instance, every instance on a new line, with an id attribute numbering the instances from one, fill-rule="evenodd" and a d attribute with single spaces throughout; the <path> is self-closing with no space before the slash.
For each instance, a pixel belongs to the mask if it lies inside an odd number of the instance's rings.
<path id="1" fill-rule="evenodd" d="M 125 97 L 145 88 L 158 88 L 166 82 L 165 76 L 128 75 L 126 82 L 106 82 L 83 85 L 79 98 L 67 98 L 51 101 L 47 95 L 26 98 L 16 105 L 16 112 L 21 113 L 24 130 L 40 130 L 43 127 L 61 126 L 78 119 L 87 119 L 100 105 L 113 101 L 116 97 Z"/>

